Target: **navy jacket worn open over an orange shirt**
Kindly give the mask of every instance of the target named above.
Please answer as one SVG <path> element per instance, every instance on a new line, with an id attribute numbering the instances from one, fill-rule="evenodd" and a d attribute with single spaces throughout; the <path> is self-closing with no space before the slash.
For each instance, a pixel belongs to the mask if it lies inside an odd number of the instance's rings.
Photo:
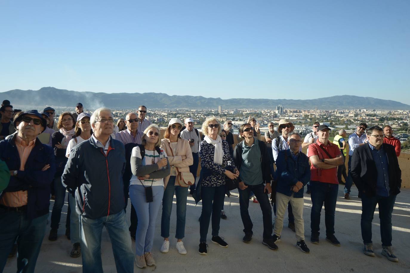
<path id="1" fill-rule="evenodd" d="M 10 177 L 4 192 L 27 190 L 27 218 L 34 219 L 47 214 L 50 207 L 50 185 L 55 174 L 54 151 L 37 138 L 24 165 L 24 171 L 20 171 L 21 161 L 15 139 L 16 135 L 0 142 L 0 159 L 6 162 L 9 170 L 18 170 L 16 176 Z M 41 171 L 47 164 L 50 164 L 50 168 Z"/>

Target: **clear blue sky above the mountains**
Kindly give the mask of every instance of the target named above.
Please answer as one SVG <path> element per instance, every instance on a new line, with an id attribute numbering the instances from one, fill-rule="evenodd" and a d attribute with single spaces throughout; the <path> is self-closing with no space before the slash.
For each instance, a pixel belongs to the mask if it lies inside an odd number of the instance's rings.
<path id="1" fill-rule="evenodd" d="M 0 92 L 410 104 L 408 0 L 0 1 Z"/>

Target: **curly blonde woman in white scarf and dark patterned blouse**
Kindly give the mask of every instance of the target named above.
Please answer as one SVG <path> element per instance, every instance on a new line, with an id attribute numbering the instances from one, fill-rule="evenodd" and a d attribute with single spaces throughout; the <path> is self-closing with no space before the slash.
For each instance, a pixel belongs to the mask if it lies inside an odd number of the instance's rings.
<path id="1" fill-rule="evenodd" d="M 225 198 L 225 176 L 235 179 L 239 171 L 235 168 L 229 152 L 229 144 L 222 140 L 221 124 L 214 116 L 207 117 L 202 124 L 204 140 L 199 144 L 199 156 L 201 158 L 201 197 L 202 214 L 200 217 L 200 240 L 199 253 L 207 254 L 207 234 L 212 214 L 212 242 L 222 247 L 228 247 L 223 237 L 219 237 L 219 223 L 221 210 Z M 234 172 L 229 171 L 227 168 Z"/>

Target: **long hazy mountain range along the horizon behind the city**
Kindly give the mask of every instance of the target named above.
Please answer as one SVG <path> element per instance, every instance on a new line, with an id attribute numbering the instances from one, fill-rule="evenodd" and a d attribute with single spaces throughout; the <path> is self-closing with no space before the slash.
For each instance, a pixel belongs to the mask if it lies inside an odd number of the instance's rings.
<path id="1" fill-rule="evenodd" d="M 269 94 L 271 95 L 271 94 Z M 109 108 L 134 109 L 144 104 L 148 108 L 254 108 L 276 109 L 282 104 L 292 109 L 377 109 L 409 110 L 410 105 L 393 100 L 338 95 L 318 99 L 244 99 L 244 98 L 207 98 L 203 96 L 169 96 L 164 93 L 93 93 L 77 92 L 54 87 L 43 87 L 39 90 L 14 89 L 0 93 L 1 100 L 8 99 L 12 105 L 30 106 L 69 106 L 75 107 L 81 102 L 86 109 L 106 106 Z"/>

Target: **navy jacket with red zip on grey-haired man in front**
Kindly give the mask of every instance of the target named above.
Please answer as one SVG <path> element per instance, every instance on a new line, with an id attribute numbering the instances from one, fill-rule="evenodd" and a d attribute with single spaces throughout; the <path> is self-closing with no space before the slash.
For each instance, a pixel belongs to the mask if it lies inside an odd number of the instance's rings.
<path id="1" fill-rule="evenodd" d="M 76 145 L 62 182 L 69 192 L 75 192 L 77 212 L 90 219 L 121 212 L 125 205 L 124 169 L 125 148 L 120 141 L 110 139 L 107 155 L 92 137 Z"/>

